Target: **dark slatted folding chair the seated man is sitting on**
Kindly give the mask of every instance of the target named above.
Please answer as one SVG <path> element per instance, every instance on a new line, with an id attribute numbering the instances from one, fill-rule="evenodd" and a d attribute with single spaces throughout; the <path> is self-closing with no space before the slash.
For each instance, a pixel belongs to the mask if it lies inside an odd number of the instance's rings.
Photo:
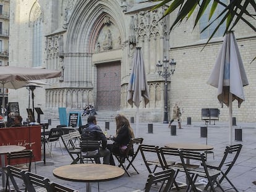
<path id="1" fill-rule="evenodd" d="M 80 163 L 83 164 L 83 160 L 93 159 L 96 163 L 100 163 L 99 149 L 101 141 L 80 141 Z"/>

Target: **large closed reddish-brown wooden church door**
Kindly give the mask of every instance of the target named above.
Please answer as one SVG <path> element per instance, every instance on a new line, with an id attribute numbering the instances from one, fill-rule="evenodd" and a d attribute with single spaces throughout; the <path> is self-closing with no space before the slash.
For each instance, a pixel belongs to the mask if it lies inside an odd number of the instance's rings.
<path id="1" fill-rule="evenodd" d="M 112 62 L 97 65 L 96 110 L 112 111 L 120 109 L 121 64 Z"/>

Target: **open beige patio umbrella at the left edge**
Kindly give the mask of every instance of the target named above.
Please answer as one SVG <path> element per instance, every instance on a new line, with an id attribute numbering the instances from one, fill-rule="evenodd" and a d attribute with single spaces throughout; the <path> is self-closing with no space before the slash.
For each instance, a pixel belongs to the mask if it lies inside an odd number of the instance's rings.
<path id="1" fill-rule="evenodd" d="M 4 88 L 19 87 L 19 81 L 42 80 L 60 77 L 59 70 L 35 69 L 26 67 L 0 66 L 0 84 L 2 85 L 2 108 L 4 109 Z M 25 82 L 27 85 L 30 82 Z M 24 84 L 24 82 L 23 82 Z M 19 86 L 18 86 L 19 85 Z M 23 85 L 24 86 L 24 85 Z M 20 88 L 20 87 L 19 87 Z M 3 114 L 4 115 L 4 114 Z"/>

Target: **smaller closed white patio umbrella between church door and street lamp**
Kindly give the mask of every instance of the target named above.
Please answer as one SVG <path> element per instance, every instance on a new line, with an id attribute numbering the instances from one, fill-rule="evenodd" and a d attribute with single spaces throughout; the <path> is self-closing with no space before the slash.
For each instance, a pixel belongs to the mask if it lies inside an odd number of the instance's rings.
<path id="1" fill-rule="evenodd" d="M 144 61 L 141 48 L 136 48 L 134 52 L 134 61 L 132 64 L 132 72 L 130 73 L 130 81 L 128 85 L 127 102 L 133 107 L 137 107 L 136 111 L 136 136 L 139 133 L 139 106 L 144 98 L 145 106 L 149 102 L 148 84 L 145 74 Z"/>

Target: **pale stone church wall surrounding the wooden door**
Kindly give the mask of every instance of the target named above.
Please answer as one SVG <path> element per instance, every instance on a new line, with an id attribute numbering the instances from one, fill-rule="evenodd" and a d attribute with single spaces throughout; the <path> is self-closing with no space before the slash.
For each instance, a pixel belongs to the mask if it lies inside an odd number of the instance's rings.
<path id="1" fill-rule="evenodd" d="M 173 104 L 179 102 L 183 120 L 187 117 L 200 120 L 202 108 L 219 108 L 220 120 L 227 120 L 227 107 L 221 108 L 216 99 L 216 88 L 206 83 L 223 37 L 213 38 L 203 49 L 206 40 L 200 40 L 198 27 L 193 30 L 193 19 L 169 33 L 173 16 L 158 22 L 166 7 L 147 12 L 150 7 L 147 2 L 23 0 L 10 4 L 9 64 L 32 67 L 32 25 L 33 20 L 40 17 L 43 27 L 41 66 L 62 71 L 60 78 L 46 80 L 49 86 L 35 90 L 35 106 L 42 107 L 46 119 L 57 118 L 58 107 L 82 111 L 85 104 L 96 106 L 96 65 L 114 61 L 121 63 L 120 111 L 133 116 L 135 109 L 126 102 L 127 85 L 135 47 L 140 46 L 150 95 L 147 107 L 143 102 L 140 105 L 140 120 L 163 120 L 164 78 L 158 75 L 156 63 L 164 56 L 177 63 L 174 75 L 168 78 L 169 114 Z M 248 20 L 255 26 L 254 20 Z M 237 26 L 235 35 L 250 85 L 244 88 L 246 101 L 240 109 L 234 102 L 233 114 L 240 122 L 254 122 L 256 69 L 255 61 L 249 63 L 255 57 L 256 36 L 255 31 L 244 23 Z M 20 95 L 24 97 L 20 98 Z M 11 90 L 9 101 L 19 101 L 22 115 L 27 115 L 28 91 L 25 88 Z"/>

